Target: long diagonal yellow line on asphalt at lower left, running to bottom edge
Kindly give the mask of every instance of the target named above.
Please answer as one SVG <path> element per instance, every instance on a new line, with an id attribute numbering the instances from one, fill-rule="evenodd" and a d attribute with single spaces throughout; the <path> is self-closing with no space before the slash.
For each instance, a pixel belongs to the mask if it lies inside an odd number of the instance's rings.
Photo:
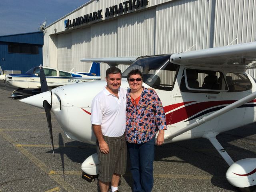
<path id="1" fill-rule="evenodd" d="M 18 143 L 16 143 L 12 138 L 10 138 L 7 134 L 0 131 L 0 136 L 2 136 L 5 140 L 10 142 L 14 147 L 16 147 L 22 154 L 24 154 L 30 161 L 32 161 L 36 166 L 38 166 L 41 170 L 43 170 L 46 174 L 50 172 L 50 168 L 48 168 L 45 164 L 43 164 L 38 158 L 36 158 L 34 155 L 32 155 L 30 152 L 28 152 L 23 147 L 17 147 Z M 56 174 L 48 174 L 50 178 L 52 178 L 54 181 L 56 181 L 62 188 L 67 190 L 68 192 L 77 192 L 78 190 L 74 188 L 74 186 L 70 185 L 68 182 L 66 182 L 61 175 Z"/>

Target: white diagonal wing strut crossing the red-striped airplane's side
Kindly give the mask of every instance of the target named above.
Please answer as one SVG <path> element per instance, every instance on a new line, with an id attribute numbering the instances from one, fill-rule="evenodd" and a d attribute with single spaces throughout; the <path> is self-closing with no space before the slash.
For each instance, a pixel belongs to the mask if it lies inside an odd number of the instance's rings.
<path id="1" fill-rule="evenodd" d="M 172 139 L 172 138 L 174 138 L 174 137 L 176 137 L 180 134 L 183 134 L 183 133 L 185 133 L 189 130 L 192 130 L 193 128 L 195 128 L 195 127 L 197 127 L 201 124 L 204 124 L 204 123 L 206 123 L 206 122 L 208 122 L 208 121 L 210 121 L 210 120 L 212 120 L 212 119 L 214 119 L 214 118 L 216 118 L 216 117 L 218 117 L 218 116 L 220 116 L 220 115 L 222 115 L 226 112 L 229 112 L 230 110 L 232 110 L 234 108 L 237 108 L 237 107 L 253 100 L 254 98 L 256 98 L 256 92 L 254 92 L 254 93 L 252 93 L 252 94 L 250 94 L 250 95 L 248 95 L 248 96 L 246 96 L 246 97 L 244 97 L 244 98 L 242 98 L 242 99 L 240 99 L 240 100 L 238 100 L 238 101 L 236 101 L 236 102 L 234 102 L 234 103 L 232 103 L 232 104 L 230 104 L 230 105 L 228 105 L 228 106 L 226 106 L 226 107 L 224 107 L 224 108 L 222 108 L 222 109 L 220 109 L 220 110 L 218 110 L 218 111 L 216 111 L 216 112 L 214 112 L 214 113 L 212 113 L 212 114 L 210 114 L 206 117 L 203 117 L 202 119 L 190 124 L 189 126 L 186 126 L 186 127 L 182 128 L 181 130 L 178 130 L 174 134 L 166 136 L 165 139 Z"/>

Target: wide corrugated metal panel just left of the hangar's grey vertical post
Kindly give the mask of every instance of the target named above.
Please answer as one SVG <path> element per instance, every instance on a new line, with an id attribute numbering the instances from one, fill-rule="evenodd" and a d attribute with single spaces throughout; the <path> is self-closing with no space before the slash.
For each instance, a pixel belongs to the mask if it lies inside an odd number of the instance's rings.
<path id="1" fill-rule="evenodd" d="M 211 0 L 180 0 L 157 6 L 156 54 L 209 48 L 211 5 Z"/>

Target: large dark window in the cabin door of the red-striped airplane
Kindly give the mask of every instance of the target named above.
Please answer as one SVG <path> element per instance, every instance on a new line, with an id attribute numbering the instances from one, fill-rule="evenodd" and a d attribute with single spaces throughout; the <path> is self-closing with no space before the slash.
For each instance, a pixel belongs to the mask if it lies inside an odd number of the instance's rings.
<path id="1" fill-rule="evenodd" d="M 222 83 L 225 81 L 221 72 L 188 68 L 185 70 L 180 82 L 182 92 L 219 93 L 227 91 L 227 88 L 222 90 Z"/>

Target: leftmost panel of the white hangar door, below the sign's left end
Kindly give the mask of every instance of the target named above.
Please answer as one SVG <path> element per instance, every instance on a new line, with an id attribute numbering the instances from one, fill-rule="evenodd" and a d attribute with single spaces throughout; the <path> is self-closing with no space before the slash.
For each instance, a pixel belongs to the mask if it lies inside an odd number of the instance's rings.
<path id="1" fill-rule="evenodd" d="M 72 33 L 57 35 L 58 69 L 72 69 Z"/>

